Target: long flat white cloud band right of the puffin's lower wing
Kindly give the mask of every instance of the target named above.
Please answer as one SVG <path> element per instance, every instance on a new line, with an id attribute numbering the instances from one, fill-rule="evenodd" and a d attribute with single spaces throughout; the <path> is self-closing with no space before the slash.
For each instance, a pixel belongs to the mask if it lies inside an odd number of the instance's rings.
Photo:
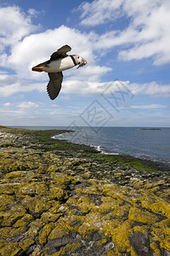
<path id="1" fill-rule="evenodd" d="M 109 95 L 111 93 L 126 92 L 130 97 L 143 94 L 153 97 L 170 96 L 170 84 L 157 84 L 156 82 L 145 84 L 130 84 L 129 81 L 80 81 L 66 80 L 63 83 L 61 93 L 75 93 L 82 96 Z"/>

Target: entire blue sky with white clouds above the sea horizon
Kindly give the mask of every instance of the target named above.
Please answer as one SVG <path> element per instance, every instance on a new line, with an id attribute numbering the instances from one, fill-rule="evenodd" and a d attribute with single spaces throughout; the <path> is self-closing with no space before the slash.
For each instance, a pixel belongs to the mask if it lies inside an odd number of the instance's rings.
<path id="1" fill-rule="evenodd" d="M 0 125 L 170 126 L 167 0 L 0 1 Z M 51 101 L 31 67 L 62 45 L 88 65 Z"/>

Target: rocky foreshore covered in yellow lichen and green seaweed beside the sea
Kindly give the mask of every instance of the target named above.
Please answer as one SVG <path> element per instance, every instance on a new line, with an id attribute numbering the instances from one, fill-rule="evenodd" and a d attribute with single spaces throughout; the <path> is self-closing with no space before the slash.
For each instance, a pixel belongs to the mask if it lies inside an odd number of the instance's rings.
<path id="1" fill-rule="evenodd" d="M 0 255 L 170 255 L 170 170 L 0 126 Z"/>

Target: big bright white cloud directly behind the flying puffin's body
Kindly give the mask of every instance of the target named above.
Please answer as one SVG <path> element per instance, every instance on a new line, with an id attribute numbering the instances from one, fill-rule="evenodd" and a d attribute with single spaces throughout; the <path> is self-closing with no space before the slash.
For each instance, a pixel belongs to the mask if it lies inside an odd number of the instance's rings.
<path id="1" fill-rule="evenodd" d="M 93 53 L 93 40 L 91 40 L 93 37 L 91 36 L 91 34 L 81 33 L 66 26 L 31 34 L 15 44 L 11 49 L 10 55 L 2 55 L 1 63 L 4 67 L 14 69 L 18 75 L 20 74 L 20 78 L 44 80 L 47 75 L 33 73 L 31 72 L 31 67 L 41 61 L 47 61 L 55 50 L 64 44 L 70 44 L 70 42 L 71 54 L 82 55 L 94 65 L 95 56 Z"/>

